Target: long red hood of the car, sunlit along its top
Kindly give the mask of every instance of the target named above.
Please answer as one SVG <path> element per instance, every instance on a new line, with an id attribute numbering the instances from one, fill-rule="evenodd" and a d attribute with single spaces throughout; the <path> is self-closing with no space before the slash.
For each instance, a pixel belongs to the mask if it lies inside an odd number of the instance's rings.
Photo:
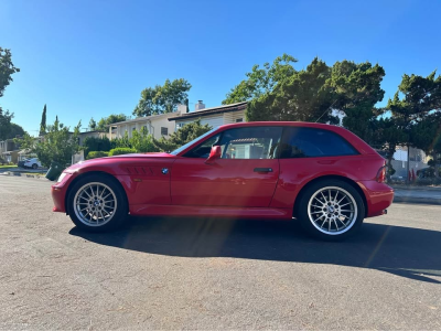
<path id="1" fill-rule="evenodd" d="M 146 160 L 161 160 L 161 159 L 174 159 L 175 157 L 164 152 L 154 152 L 154 153 L 133 153 L 133 154 L 121 154 L 115 157 L 106 157 L 106 158 L 97 158 L 86 161 L 79 161 L 78 163 L 72 164 L 64 172 L 73 173 L 79 171 L 82 169 L 89 168 L 114 168 L 115 166 L 119 166 L 121 163 L 132 163 Z"/>

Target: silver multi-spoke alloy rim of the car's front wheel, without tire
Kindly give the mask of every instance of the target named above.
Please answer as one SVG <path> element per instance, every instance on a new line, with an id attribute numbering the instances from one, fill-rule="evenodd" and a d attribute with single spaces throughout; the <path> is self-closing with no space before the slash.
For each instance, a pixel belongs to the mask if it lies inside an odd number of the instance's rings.
<path id="1" fill-rule="evenodd" d="M 101 226 L 110 222 L 118 206 L 115 192 L 100 182 L 83 185 L 73 203 L 75 215 L 88 226 Z"/>

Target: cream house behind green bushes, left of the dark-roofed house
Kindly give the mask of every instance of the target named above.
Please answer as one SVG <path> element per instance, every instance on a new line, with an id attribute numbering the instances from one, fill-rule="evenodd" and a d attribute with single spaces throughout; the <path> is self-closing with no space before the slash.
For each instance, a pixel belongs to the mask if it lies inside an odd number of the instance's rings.
<path id="1" fill-rule="evenodd" d="M 126 132 L 129 138 L 131 138 L 131 134 L 133 130 L 140 131 L 142 128 L 146 128 L 149 134 L 151 134 L 154 138 L 159 139 L 161 137 L 168 138 L 170 134 L 174 131 L 174 122 L 170 122 L 170 117 L 175 117 L 181 111 L 186 113 L 185 105 L 179 105 L 178 111 L 152 115 L 146 117 L 138 117 L 135 119 L 129 119 L 125 121 L 119 121 L 109 125 L 109 139 L 122 138 Z"/>

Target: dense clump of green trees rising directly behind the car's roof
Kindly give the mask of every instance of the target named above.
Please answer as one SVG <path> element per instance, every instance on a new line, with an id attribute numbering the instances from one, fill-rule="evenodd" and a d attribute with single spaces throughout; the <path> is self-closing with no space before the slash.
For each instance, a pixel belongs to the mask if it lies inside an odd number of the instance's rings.
<path id="1" fill-rule="evenodd" d="M 363 139 L 373 137 L 374 106 L 384 97 L 381 66 L 369 62 L 336 62 L 332 67 L 315 57 L 305 70 L 295 71 L 290 55 L 272 65 L 258 65 L 232 89 L 223 103 L 248 100 L 248 120 L 303 120 L 336 124 L 333 110 L 345 115 L 345 126 Z M 361 120 L 363 119 L 363 120 Z"/>

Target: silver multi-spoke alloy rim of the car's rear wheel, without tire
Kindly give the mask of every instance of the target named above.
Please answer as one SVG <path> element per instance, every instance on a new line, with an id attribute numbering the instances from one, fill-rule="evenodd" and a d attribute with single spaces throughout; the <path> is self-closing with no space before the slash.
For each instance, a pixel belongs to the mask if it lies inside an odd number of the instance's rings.
<path id="1" fill-rule="evenodd" d="M 357 220 L 358 207 L 349 192 L 338 186 L 322 188 L 308 203 L 308 216 L 326 235 L 347 232 Z"/>

